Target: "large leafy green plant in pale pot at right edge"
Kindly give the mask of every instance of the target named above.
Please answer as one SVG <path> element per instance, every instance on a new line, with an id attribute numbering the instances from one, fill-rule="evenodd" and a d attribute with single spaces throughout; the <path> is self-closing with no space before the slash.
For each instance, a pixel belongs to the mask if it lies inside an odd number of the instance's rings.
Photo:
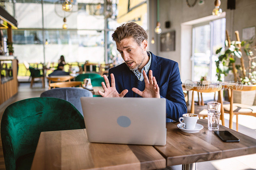
<path id="1" fill-rule="evenodd" d="M 243 85 L 256 84 L 256 56 L 253 55 L 256 48 L 252 46 L 254 37 L 247 41 L 239 41 L 238 32 L 236 32 L 236 36 L 238 37 L 237 41 L 230 41 L 227 33 L 226 51 L 223 51 L 222 48 L 216 50 L 216 54 L 219 55 L 219 60 L 215 61 L 218 80 L 221 81 L 221 74 L 226 76 L 233 72 L 234 82 Z M 248 59 L 244 60 L 245 58 Z M 256 103 L 254 101 L 255 94 L 256 92 L 252 91 L 234 91 L 234 103 L 253 105 Z"/>

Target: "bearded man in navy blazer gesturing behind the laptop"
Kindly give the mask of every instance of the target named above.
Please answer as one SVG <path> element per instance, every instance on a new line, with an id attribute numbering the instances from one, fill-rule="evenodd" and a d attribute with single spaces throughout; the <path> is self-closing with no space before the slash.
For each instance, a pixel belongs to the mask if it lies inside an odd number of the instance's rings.
<path id="1" fill-rule="evenodd" d="M 102 97 L 156 97 L 166 99 L 166 122 L 187 113 L 178 63 L 148 52 L 148 34 L 134 22 L 123 24 L 112 34 L 123 64 L 109 69 L 101 83 Z M 143 81 L 144 80 L 144 81 Z M 111 82 L 111 86 L 110 83 Z M 129 105 L 129 103 L 127 103 Z"/>

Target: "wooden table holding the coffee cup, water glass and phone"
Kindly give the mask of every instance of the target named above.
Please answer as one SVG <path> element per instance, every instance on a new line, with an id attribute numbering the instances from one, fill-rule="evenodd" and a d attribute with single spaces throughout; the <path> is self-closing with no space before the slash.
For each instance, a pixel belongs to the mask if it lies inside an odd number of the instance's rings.
<path id="1" fill-rule="evenodd" d="M 220 131 L 228 130 L 240 142 L 223 142 L 214 131 L 208 130 L 207 119 L 199 119 L 204 129 L 197 133 L 186 133 L 177 128 L 178 122 L 167 123 L 165 146 L 154 146 L 166 159 L 166 166 L 196 166 L 194 162 L 224 159 L 256 153 L 256 139 L 220 125 Z M 185 164 L 185 165 L 184 165 Z"/>

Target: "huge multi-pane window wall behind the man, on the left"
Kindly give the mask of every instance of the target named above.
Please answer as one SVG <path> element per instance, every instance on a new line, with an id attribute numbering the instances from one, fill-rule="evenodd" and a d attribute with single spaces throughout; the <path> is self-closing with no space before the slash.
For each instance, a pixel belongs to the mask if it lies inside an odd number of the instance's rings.
<path id="1" fill-rule="evenodd" d="M 62 2 L 61 2 L 62 1 Z M 134 21 L 147 30 L 147 0 L 71 0 L 72 12 L 62 10 L 63 0 L 3 0 L 0 5 L 18 21 L 13 30 L 14 55 L 19 63 L 123 62 L 112 33 Z M 64 18 L 67 29 L 63 29 Z"/>

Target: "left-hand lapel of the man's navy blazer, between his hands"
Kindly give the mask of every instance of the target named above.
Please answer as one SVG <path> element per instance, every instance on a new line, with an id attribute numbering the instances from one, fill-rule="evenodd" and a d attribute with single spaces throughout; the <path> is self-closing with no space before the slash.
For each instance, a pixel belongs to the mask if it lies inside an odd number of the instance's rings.
<path id="1" fill-rule="evenodd" d="M 127 89 L 128 93 L 126 93 L 126 97 L 133 97 L 132 91 L 132 74 L 129 69 L 125 69 L 122 71 L 124 90 Z M 121 93 L 121 92 L 120 92 Z"/>

